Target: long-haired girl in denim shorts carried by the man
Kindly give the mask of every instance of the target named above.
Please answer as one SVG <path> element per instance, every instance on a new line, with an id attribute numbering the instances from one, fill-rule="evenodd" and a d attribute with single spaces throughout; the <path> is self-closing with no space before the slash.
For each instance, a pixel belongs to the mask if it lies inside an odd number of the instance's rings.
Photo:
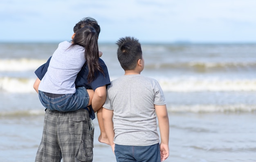
<path id="1" fill-rule="evenodd" d="M 89 82 L 94 79 L 94 72 L 103 73 L 98 60 L 98 35 L 92 27 L 76 31 L 71 43 L 61 42 L 38 87 L 43 106 L 52 111 L 76 111 L 90 105 L 93 90 L 76 88 L 74 82 L 85 62 L 89 68 Z"/>

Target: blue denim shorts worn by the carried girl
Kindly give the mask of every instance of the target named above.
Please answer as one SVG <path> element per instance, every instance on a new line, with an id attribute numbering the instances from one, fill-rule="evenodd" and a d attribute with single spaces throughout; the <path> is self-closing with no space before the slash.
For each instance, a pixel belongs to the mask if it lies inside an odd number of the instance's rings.
<path id="1" fill-rule="evenodd" d="M 40 102 L 51 111 L 76 111 L 88 106 L 89 95 L 85 87 L 76 88 L 74 94 L 64 94 L 57 98 L 51 98 L 42 91 L 38 91 Z"/>

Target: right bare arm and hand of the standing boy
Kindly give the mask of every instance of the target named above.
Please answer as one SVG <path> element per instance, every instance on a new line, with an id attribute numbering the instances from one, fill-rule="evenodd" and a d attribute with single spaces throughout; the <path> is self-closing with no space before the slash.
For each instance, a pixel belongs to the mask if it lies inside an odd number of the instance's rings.
<path id="1" fill-rule="evenodd" d="M 161 136 L 161 161 L 164 161 L 169 156 L 169 118 L 166 105 L 155 105 L 155 112 L 157 114 Z"/>

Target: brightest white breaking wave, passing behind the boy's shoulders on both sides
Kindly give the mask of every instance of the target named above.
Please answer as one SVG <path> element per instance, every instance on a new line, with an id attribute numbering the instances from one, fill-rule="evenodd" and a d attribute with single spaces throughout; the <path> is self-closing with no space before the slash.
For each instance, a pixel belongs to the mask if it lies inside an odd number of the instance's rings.
<path id="1" fill-rule="evenodd" d="M 0 78 L 0 91 L 9 93 L 35 92 L 33 84 L 36 78 Z M 111 78 L 110 78 L 111 79 Z M 218 78 L 156 78 L 163 91 L 256 91 L 256 79 L 218 79 Z"/>

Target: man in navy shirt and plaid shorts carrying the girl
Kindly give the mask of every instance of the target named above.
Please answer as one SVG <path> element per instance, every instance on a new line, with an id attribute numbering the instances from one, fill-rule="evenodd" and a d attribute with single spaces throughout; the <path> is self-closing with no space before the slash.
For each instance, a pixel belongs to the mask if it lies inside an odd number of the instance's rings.
<path id="1" fill-rule="evenodd" d="M 84 26 L 94 27 L 99 34 L 100 27 L 92 18 L 84 18 L 74 27 L 74 32 Z M 50 60 L 51 58 L 49 58 Z M 34 89 L 38 92 L 38 85 L 49 65 L 49 60 L 36 71 L 37 79 Z M 94 73 L 95 79 L 88 83 L 88 66 L 85 63 L 78 73 L 76 87 L 93 89 L 92 107 L 90 113 L 100 109 L 106 100 L 106 86 L 110 84 L 108 69 L 99 59 L 103 73 Z M 88 109 L 71 112 L 49 111 L 46 109 L 43 127 L 43 137 L 36 154 L 36 162 L 92 162 L 93 158 L 94 126 L 89 117 Z"/>

